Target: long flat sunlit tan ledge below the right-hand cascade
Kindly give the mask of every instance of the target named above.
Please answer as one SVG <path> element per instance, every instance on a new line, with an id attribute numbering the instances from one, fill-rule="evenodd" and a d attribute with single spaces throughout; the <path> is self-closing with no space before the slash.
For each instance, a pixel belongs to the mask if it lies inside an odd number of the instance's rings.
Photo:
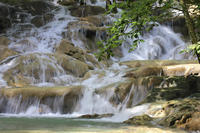
<path id="1" fill-rule="evenodd" d="M 191 63 L 191 64 L 187 64 Z M 200 65 L 193 61 L 133 61 L 121 63 L 132 69 L 125 77 L 199 75 Z"/>

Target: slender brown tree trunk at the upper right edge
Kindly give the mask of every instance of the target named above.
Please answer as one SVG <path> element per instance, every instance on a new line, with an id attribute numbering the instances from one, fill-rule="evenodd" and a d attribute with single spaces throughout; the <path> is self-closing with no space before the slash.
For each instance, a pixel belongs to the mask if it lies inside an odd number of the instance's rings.
<path id="1" fill-rule="evenodd" d="M 196 44 L 198 42 L 198 39 L 197 39 L 197 35 L 196 35 L 196 32 L 195 32 L 195 28 L 194 28 L 194 22 L 191 19 L 189 11 L 188 11 L 188 6 L 186 4 L 186 0 L 180 0 L 180 5 L 181 5 L 182 10 L 183 10 L 183 14 L 184 14 L 184 17 L 185 17 L 185 21 L 186 21 L 186 25 L 187 25 L 187 28 L 188 28 L 188 32 L 189 32 L 189 35 L 190 35 L 191 42 L 192 42 L 192 44 Z M 196 54 L 198 62 L 200 64 L 200 55 L 197 53 L 197 50 L 195 50 L 195 54 Z"/>

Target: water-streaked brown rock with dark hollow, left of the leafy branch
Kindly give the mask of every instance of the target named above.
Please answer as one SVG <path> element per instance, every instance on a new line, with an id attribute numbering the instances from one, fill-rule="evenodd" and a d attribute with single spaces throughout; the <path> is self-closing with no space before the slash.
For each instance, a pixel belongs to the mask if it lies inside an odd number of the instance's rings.
<path id="1" fill-rule="evenodd" d="M 105 27 L 96 27 L 87 21 L 70 22 L 67 29 L 67 32 L 63 33 L 65 39 L 79 42 L 80 47 L 92 51 L 97 50 L 96 42 L 106 31 Z"/>

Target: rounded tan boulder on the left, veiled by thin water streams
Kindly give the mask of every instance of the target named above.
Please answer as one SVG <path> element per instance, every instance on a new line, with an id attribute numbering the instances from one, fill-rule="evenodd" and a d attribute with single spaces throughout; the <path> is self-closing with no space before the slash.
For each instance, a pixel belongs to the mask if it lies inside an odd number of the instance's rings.
<path id="1" fill-rule="evenodd" d="M 16 64 L 4 73 L 4 79 L 9 86 L 22 87 L 31 83 L 52 81 L 56 68 L 51 65 L 51 60 L 40 59 L 41 55 L 29 54 L 16 59 Z M 43 64 L 42 64 L 43 63 Z M 43 70 L 43 67 L 46 70 Z M 42 77 L 44 74 L 44 77 Z"/>

